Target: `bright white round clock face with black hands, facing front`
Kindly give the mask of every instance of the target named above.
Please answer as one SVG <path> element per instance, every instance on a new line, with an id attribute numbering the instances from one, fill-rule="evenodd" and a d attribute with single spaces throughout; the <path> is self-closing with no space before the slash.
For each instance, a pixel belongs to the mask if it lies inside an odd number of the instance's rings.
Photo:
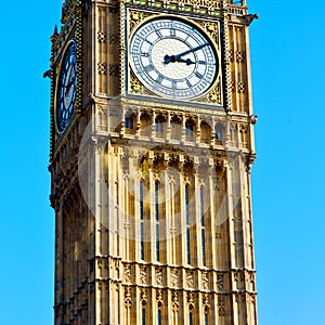
<path id="1" fill-rule="evenodd" d="M 218 58 L 211 41 L 183 21 L 159 18 L 141 25 L 130 42 L 130 63 L 154 93 L 194 99 L 216 80 Z"/>

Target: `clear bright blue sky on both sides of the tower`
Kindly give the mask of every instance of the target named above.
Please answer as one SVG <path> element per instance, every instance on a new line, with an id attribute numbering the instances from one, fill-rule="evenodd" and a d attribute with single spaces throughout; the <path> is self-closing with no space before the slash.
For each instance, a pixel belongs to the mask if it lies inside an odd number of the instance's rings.
<path id="1" fill-rule="evenodd" d="M 261 325 L 325 324 L 325 2 L 248 2 L 258 159 Z M 61 1 L 3 1 L 0 29 L 0 324 L 52 324 L 50 41 Z M 6 117 L 5 117 L 6 116 Z"/>

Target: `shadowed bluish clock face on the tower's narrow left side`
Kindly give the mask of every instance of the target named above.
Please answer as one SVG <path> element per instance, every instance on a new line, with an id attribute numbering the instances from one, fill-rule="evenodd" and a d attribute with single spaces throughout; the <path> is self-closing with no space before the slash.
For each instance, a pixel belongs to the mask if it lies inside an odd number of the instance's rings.
<path id="1" fill-rule="evenodd" d="M 76 43 L 72 42 L 65 52 L 57 81 L 56 127 L 58 132 L 63 132 L 70 120 L 76 100 Z"/>

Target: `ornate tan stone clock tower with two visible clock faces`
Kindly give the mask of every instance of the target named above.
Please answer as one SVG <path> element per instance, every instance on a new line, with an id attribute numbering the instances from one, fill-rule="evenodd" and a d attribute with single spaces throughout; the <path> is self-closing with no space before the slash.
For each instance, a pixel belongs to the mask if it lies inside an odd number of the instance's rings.
<path id="1" fill-rule="evenodd" d="M 257 325 L 246 1 L 65 0 L 54 324 Z"/>

